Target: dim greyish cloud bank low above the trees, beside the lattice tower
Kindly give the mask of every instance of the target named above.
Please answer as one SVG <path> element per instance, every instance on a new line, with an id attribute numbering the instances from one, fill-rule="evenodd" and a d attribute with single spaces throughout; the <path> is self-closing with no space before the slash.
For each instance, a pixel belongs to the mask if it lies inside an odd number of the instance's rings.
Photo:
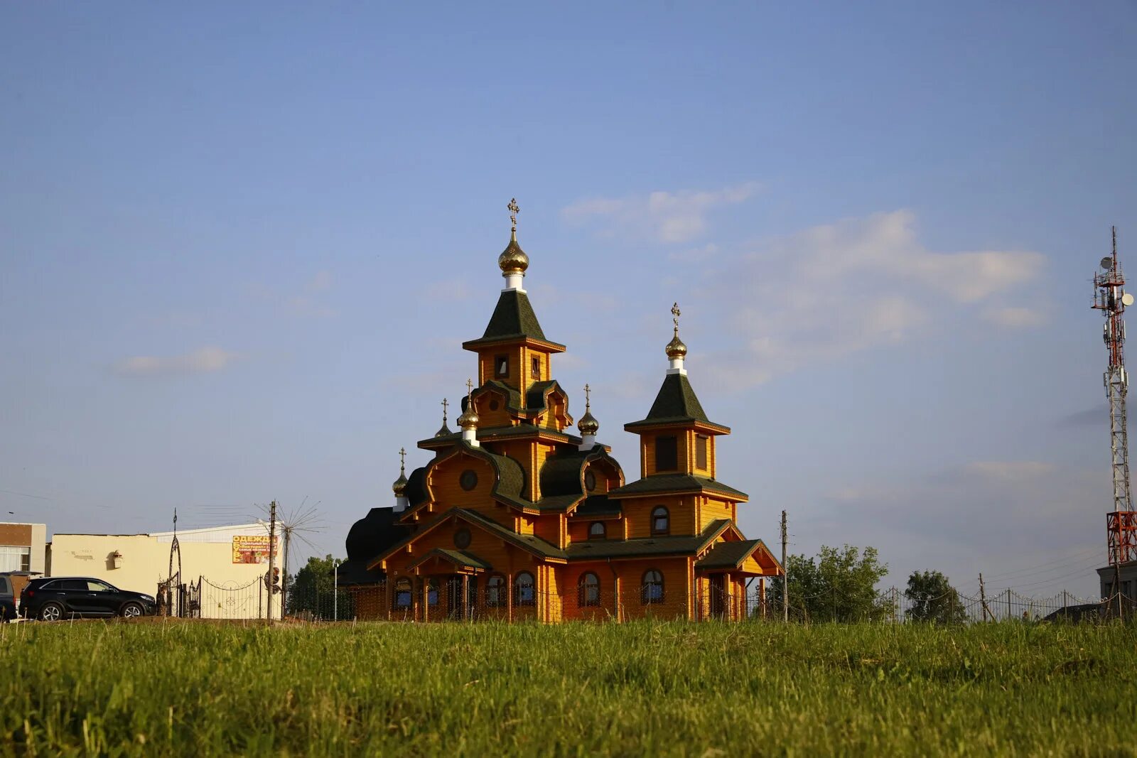
<path id="1" fill-rule="evenodd" d="M 936 568 L 960 585 L 1011 586 L 1028 595 L 1089 593 L 1104 560 L 1102 522 L 1089 502 L 1109 500 L 1109 475 L 1036 460 L 973 461 L 932 475 L 837 488 L 816 514 L 814 540 L 860 540 L 881 550 L 891 583 Z M 1104 519 L 1103 519 L 1104 522 Z M 973 586 L 978 590 L 978 586 Z"/>

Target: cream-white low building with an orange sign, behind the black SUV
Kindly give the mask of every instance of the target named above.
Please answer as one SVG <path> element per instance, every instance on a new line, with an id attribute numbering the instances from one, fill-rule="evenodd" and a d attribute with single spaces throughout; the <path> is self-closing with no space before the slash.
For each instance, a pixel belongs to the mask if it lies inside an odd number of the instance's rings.
<path id="1" fill-rule="evenodd" d="M 50 576 L 90 576 L 121 590 L 158 594 L 173 575 L 186 607 L 202 618 L 265 618 L 268 526 L 239 524 L 151 534 L 56 534 L 48 545 Z M 280 536 L 276 566 L 281 566 Z M 180 553 L 180 555 L 179 555 Z M 173 567 L 173 572 L 171 568 Z M 180 572 L 180 574 L 179 574 Z M 273 594 L 273 617 L 281 617 Z"/>

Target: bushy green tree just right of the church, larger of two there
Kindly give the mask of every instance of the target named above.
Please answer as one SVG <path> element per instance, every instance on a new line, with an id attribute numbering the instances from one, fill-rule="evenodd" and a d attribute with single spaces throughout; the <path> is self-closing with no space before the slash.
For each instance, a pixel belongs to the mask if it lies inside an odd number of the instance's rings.
<path id="1" fill-rule="evenodd" d="M 822 545 L 815 558 L 787 556 L 790 617 L 812 622 L 882 620 L 894 611 L 888 599 L 877 594 L 877 583 L 888 573 L 875 548 L 863 551 L 846 544 Z M 774 581 L 770 607 L 780 609 L 782 588 Z M 777 618 L 777 610 L 773 611 Z"/>

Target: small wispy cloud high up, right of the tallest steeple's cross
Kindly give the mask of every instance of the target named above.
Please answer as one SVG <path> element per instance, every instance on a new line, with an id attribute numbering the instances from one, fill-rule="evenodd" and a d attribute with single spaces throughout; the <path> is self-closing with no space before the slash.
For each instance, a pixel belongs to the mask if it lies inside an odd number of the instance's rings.
<path id="1" fill-rule="evenodd" d="M 747 200 L 758 190 L 746 182 L 721 190 L 679 192 L 656 191 L 628 198 L 591 198 L 561 210 L 571 223 L 596 222 L 605 236 L 644 236 L 655 242 L 688 242 L 706 230 L 706 214 L 712 208 Z"/>

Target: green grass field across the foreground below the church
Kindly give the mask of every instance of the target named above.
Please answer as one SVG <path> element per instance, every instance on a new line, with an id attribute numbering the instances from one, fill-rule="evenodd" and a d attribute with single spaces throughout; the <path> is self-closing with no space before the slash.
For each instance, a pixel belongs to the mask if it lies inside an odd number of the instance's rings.
<path id="1" fill-rule="evenodd" d="M 1135 755 L 1137 628 L 0 631 L 5 755 Z"/>

